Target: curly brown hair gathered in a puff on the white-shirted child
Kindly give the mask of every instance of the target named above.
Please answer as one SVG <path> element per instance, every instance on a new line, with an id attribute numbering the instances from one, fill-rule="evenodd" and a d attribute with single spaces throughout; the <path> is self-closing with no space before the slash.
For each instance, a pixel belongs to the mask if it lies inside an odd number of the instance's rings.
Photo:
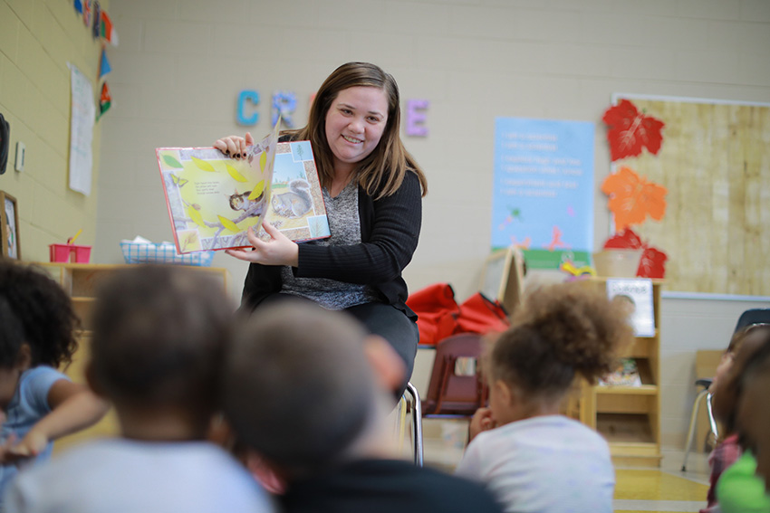
<path id="1" fill-rule="evenodd" d="M 575 281 L 534 290 L 492 348 L 493 379 L 534 397 L 565 393 L 575 375 L 607 375 L 633 338 L 627 310 L 603 290 Z"/>

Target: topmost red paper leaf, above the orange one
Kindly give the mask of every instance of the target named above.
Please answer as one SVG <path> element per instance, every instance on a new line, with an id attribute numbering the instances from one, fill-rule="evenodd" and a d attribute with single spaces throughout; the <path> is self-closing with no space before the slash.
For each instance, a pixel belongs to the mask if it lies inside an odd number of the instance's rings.
<path id="1" fill-rule="evenodd" d="M 660 130 L 665 123 L 645 116 L 629 100 L 621 100 L 604 112 L 602 121 L 607 124 L 607 141 L 610 143 L 612 162 L 625 157 L 640 155 L 647 147 L 652 155 L 658 155 L 663 136 Z"/>

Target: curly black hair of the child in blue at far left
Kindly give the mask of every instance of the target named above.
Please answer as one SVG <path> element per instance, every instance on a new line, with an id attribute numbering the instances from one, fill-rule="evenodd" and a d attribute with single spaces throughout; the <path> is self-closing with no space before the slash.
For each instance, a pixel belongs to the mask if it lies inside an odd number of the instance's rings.
<path id="1" fill-rule="evenodd" d="M 43 271 L 0 258 L 0 367 L 14 366 L 27 344 L 32 366 L 72 361 L 80 319 L 66 292 Z"/>

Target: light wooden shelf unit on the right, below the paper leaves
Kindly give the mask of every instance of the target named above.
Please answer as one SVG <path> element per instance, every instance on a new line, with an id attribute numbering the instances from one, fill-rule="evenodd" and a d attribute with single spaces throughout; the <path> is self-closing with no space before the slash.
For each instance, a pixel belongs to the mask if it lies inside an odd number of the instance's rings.
<path id="1" fill-rule="evenodd" d="M 606 279 L 588 282 L 606 287 Z M 655 318 L 653 337 L 636 337 L 621 353 L 639 367 L 641 386 L 582 384 L 580 420 L 598 431 L 610 444 L 616 465 L 659 467 L 660 453 L 660 288 L 652 280 Z"/>

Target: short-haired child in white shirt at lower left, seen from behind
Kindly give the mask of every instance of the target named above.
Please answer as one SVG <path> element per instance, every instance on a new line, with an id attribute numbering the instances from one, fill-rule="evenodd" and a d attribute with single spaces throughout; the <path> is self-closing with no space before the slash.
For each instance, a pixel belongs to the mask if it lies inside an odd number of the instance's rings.
<path id="1" fill-rule="evenodd" d="M 11 512 L 272 511 L 225 451 L 206 442 L 219 405 L 233 309 L 201 273 L 117 271 L 93 315 L 87 377 L 115 406 L 120 438 L 83 444 L 22 472 Z"/>

